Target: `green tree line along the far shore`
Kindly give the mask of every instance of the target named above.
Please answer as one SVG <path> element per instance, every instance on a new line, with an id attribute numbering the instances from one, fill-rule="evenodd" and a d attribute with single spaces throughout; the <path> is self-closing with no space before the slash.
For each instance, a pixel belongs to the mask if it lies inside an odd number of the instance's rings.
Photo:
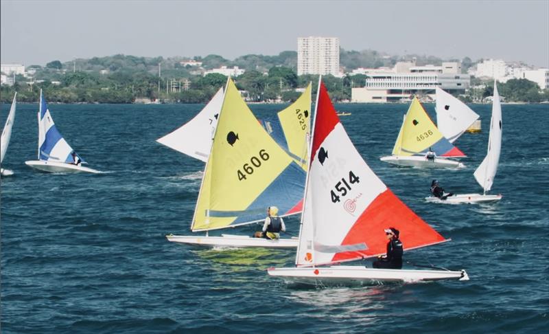
<path id="1" fill-rule="evenodd" d="M 427 56 L 408 56 L 417 65 L 427 63 L 440 65 L 440 58 Z M 408 60 L 410 60 L 408 59 Z M 0 102 L 9 103 L 14 91 L 18 91 L 20 102 L 36 102 L 40 89 L 50 102 L 65 103 L 132 103 L 136 98 L 148 98 L 167 103 L 205 103 L 226 82 L 222 74 L 207 74 L 196 67 L 182 65 L 185 58 L 137 57 L 115 55 L 76 59 L 66 63 L 54 60 L 45 67 L 31 65 L 27 71 L 34 72 L 33 77 L 16 76 L 12 87 L 2 86 Z M 316 82 L 318 76 L 297 76 L 296 52 L 281 52 L 278 56 L 247 55 L 233 61 L 221 56 L 209 55 L 194 57 L 202 63 L 204 69 L 222 65 L 238 66 L 246 69 L 244 74 L 234 78 L 238 89 L 246 91 L 246 98 L 252 102 L 292 102 L 299 97 L 296 88 L 304 88 L 309 82 Z M 342 50 L 340 63 L 351 70 L 357 67 L 391 67 L 403 58 L 366 50 L 346 52 Z M 407 60 L 406 58 L 404 60 Z M 469 58 L 462 60 L 462 66 L 470 67 L 474 63 Z M 266 73 L 266 74 L 264 74 Z M 363 87 L 366 76 L 347 75 L 343 78 L 323 76 L 323 81 L 336 102 L 351 99 L 352 87 Z M 471 83 L 480 83 L 473 80 Z M 499 83 L 500 95 L 506 101 L 541 102 L 549 100 L 549 91 L 539 91 L 535 82 L 526 79 L 513 79 Z M 471 89 L 460 96 L 465 102 L 478 102 L 491 96 L 493 83 L 487 82 L 481 91 Z"/>

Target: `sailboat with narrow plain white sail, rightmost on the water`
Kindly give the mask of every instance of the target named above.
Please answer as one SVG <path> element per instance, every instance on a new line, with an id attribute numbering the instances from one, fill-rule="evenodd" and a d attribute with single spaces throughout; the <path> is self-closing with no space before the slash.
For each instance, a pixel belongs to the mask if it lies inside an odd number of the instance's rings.
<path id="1" fill-rule="evenodd" d="M 482 163 L 476 168 L 474 176 L 478 184 L 484 189 L 482 194 L 454 194 L 441 200 L 437 197 L 427 197 L 427 201 L 435 203 L 484 203 L 499 201 L 501 194 L 487 194 L 492 188 L 495 172 L 498 171 L 500 163 L 500 152 L 502 148 L 502 105 L 498 86 L 493 86 L 492 117 L 490 120 L 490 135 L 488 139 L 488 151 Z"/>

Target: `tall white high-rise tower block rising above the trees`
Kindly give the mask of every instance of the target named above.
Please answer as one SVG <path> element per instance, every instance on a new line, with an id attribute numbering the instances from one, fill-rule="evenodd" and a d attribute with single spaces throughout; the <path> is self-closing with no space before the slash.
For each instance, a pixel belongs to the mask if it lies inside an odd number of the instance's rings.
<path id="1" fill-rule="evenodd" d="M 339 70 L 339 38 L 297 38 L 297 75 L 331 74 L 341 76 Z"/>

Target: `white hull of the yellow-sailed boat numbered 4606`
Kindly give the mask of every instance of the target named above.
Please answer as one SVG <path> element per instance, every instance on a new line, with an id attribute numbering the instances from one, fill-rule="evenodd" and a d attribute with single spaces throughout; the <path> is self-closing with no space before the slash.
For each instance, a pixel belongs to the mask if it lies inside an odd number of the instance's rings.
<path id="1" fill-rule="evenodd" d="M 266 238 L 252 238 L 250 236 L 238 236 L 222 234 L 222 236 L 166 236 L 167 241 L 185 245 L 204 247 L 265 247 L 265 248 L 297 248 L 297 238 L 269 240 Z"/>

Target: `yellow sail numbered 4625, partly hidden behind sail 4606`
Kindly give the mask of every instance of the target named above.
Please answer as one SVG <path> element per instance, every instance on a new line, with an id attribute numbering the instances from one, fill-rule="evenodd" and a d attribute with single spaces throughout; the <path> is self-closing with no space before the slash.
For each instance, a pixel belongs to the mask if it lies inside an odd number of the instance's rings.
<path id="1" fill-rule="evenodd" d="M 279 111 L 279 121 L 288 143 L 288 151 L 303 170 L 307 170 L 309 155 L 307 137 L 311 128 L 311 86 L 283 111 Z"/>

